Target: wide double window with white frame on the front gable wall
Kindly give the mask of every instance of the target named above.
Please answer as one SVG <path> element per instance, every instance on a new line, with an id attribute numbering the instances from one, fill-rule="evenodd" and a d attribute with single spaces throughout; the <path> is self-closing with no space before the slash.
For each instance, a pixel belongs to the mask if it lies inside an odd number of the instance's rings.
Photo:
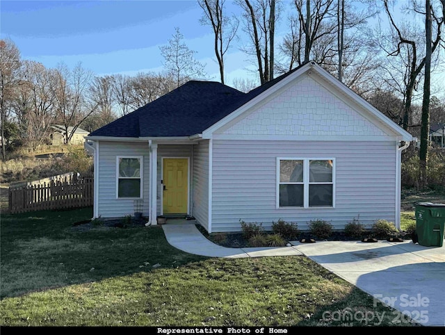
<path id="1" fill-rule="evenodd" d="M 277 158 L 277 207 L 334 207 L 333 158 Z"/>

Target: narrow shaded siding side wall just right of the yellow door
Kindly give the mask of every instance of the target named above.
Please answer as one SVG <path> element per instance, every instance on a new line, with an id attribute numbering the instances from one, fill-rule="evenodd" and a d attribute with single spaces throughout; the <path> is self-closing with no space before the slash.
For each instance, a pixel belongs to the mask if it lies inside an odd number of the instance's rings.
<path id="1" fill-rule="evenodd" d="M 209 141 L 193 146 L 193 216 L 209 230 Z"/>

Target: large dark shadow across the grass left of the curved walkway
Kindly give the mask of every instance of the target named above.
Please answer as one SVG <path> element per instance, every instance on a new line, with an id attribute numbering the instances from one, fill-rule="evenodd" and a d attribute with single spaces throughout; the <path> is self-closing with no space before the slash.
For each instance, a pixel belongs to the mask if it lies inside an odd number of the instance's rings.
<path id="1" fill-rule="evenodd" d="M 75 225 L 91 217 L 91 208 L 2 215 L 0 298 L 207 259 L 169 245 L 159 226 Z"/>

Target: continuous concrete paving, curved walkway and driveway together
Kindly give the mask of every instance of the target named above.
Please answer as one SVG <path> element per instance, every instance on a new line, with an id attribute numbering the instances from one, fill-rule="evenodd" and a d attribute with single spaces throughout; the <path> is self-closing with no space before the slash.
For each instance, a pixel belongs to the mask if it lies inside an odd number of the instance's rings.
<path id="1" fill-rule="evenodd" d="M 395 321 L 403 321 L 407 315 L 422 325 L 445 327 L 445 245 L 423 247 L 412 241 L 385 240 L 291 241 L 291 247 L 227 248 L 211 243 L 194 221 L 168 220 L 163 231 L 173 247 L 202 256 L 305 255 L 375 297 L 375 304 L 389 304 L 397 311 L 391 316 Z"/>

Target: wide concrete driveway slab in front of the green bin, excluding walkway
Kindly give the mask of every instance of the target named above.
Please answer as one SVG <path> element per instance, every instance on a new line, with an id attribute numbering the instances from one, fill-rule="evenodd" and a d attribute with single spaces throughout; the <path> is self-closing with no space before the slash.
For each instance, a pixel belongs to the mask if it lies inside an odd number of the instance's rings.
<path id="1" fill-rule="evenodd" d="M 321 241 L 292 243 L 327 270 L 416 322 L 445 326 L 445 245 Z M 401 313 L 394 319 L 403 320 Z"/>

